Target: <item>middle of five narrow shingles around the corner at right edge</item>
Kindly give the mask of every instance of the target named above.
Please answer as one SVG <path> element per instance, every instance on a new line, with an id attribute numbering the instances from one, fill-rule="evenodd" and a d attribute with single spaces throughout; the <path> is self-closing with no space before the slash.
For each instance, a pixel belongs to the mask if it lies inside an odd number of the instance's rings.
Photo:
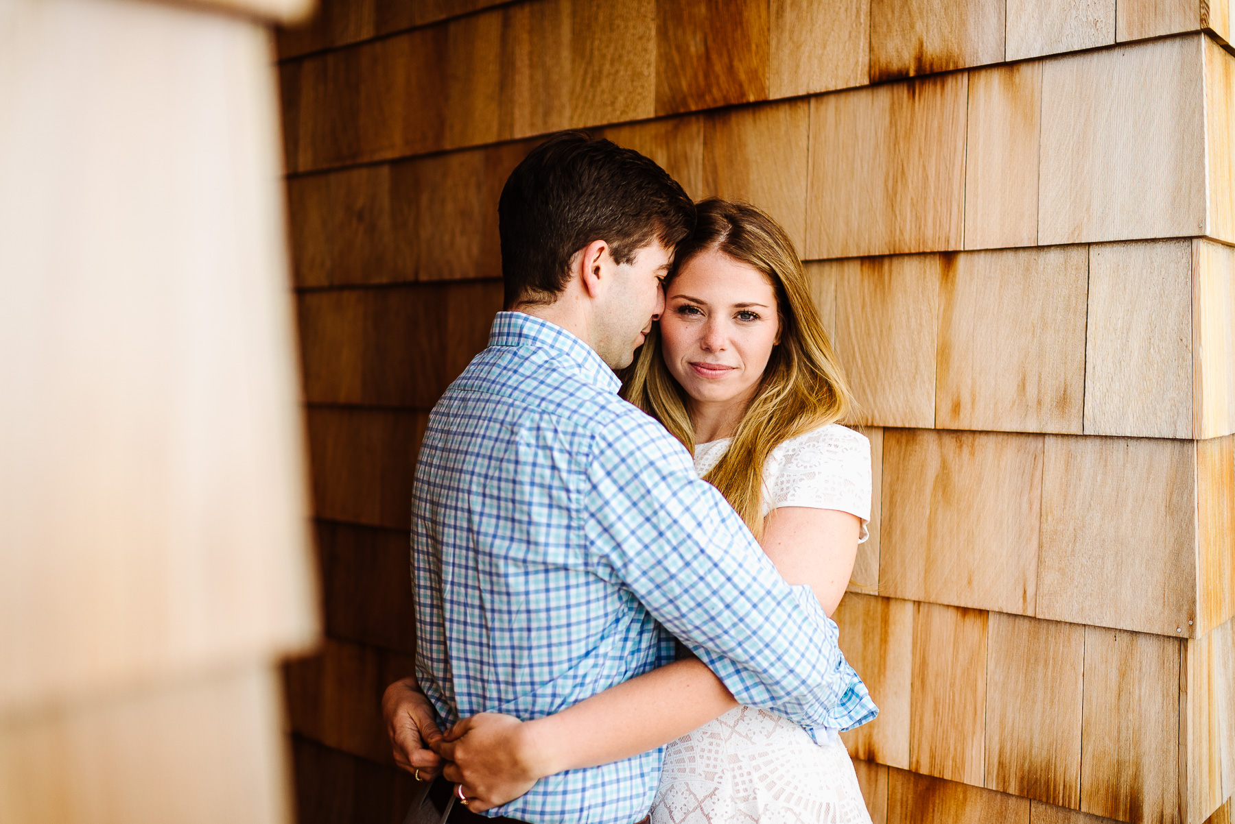
<path id="1" fill-rule="evenodd" d="M 1193 433 L 1235 432 L 1235 249 L 1192 242 Z"/>

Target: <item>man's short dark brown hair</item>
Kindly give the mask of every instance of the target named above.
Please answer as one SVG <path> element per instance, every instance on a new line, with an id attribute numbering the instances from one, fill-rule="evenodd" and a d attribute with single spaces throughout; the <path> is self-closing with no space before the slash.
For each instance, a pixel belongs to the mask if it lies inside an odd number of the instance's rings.
<path id="1" fill-rule="evenodd" d="M 515 167 L 498 202 L 506 308 L 551 303 L 571 258 L 593 241 L 631 263 L 653 238 L 673 248 L 694 228 L 694 204 L 664 169 L 587 132 L 558 132 Z"/>

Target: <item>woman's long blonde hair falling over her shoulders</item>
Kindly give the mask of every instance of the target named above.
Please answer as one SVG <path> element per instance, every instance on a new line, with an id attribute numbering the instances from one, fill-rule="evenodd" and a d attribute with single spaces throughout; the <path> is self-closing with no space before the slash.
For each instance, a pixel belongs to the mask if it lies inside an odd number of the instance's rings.
<path id="1" fill-rule="evenodd" d="M 710 197 L 698 204 L 697 212 L 695 231 L 678 245 L 669 281 L 693 258 L 715 249 L 763 273 L 776 289 L 781 340 L 729 449 L 704 477 L 760 537 L 768 455 L 789 438 L 844 418 L 853 401 L 784 229 L 750 204 Z M 626 369 L 621 393 L 694 453 L 687 396 L 664 363 L 658 327 Z"/>

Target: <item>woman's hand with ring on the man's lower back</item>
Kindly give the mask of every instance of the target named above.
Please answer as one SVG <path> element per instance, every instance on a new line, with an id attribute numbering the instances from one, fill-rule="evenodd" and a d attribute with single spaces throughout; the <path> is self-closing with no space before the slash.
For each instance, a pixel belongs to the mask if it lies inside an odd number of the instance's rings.
<path id="1" fill-rule="evenodd" d="M 448 762 L 447 781 L 462 785 L 463 794 L 474 799 L 467 804 L 469 810 L 500 807 L 531 789 L 537 778 L 556 772 L 547 766 L 547 754 L 536 751 L 529 730 L 514 715 L 480 713 L 431 744 Z"/>

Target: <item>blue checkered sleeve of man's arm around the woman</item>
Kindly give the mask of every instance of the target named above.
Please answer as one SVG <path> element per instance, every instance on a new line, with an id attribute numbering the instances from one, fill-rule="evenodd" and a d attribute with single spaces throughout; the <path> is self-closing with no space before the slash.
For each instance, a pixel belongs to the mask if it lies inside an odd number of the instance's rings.
<path id="1" fill-rule="evenodd" d="M 846 729 L 876 708 L 808 586 L 789 586 L 690 455 L 632 414 L 594 435 L 585 468 L 597 572 L 637 597 L 739 702 Z"/>

